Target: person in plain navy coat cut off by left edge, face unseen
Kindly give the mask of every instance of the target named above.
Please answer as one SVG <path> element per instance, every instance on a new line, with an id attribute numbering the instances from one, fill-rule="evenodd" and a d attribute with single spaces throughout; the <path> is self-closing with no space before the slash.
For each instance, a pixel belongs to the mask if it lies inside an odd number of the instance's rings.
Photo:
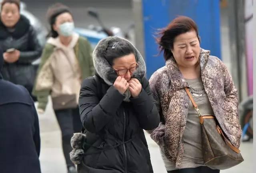
<path id="1" fill-rule="evenodd" d="M 0 72 L 4 60 L 0 49 Z M 41 173 L 40 132 L 34 102 L 26 88 L 0 75 L 0 172 Z"/>

